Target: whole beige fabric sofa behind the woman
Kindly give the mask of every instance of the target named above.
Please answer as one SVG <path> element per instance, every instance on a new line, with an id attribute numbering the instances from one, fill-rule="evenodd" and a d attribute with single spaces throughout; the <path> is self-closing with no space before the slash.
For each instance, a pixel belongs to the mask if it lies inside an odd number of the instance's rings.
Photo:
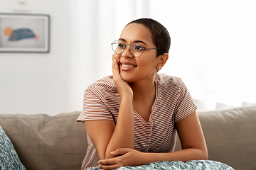
<path id="1" fill-rule="evenodd" d="M 75 121 L 79 114 L 0 114 L 0 126 L 27 170 L 78 170 L 87 150 L 85 125 Z M 256 106 L 198 112 L 198 117 L 208 159 L 235 170 L 256 169 Z"/>

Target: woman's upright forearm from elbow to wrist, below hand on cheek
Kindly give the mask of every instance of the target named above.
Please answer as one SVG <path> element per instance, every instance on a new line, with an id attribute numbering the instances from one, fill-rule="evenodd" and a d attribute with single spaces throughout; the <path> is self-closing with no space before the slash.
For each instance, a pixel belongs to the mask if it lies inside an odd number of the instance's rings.
<path id="1" fill-rule="evenodd" d="M 120 103 L 116 127 L 107 145 L 106 159 L 113 157 L 110 152 L 118 148 L 134 149 L 134 111 L 129 98 L 122 99 Z"/>

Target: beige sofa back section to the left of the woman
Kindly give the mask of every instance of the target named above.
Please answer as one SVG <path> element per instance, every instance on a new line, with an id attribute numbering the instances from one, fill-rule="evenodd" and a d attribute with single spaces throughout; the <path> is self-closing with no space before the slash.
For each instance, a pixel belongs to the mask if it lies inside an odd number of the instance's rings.
<path id="1" fill-rule="evenodd" d="M 59 115 L 0 114 L 0 125 L 27 170 L 80 169 L 87 149 L 80 112 Z"/>

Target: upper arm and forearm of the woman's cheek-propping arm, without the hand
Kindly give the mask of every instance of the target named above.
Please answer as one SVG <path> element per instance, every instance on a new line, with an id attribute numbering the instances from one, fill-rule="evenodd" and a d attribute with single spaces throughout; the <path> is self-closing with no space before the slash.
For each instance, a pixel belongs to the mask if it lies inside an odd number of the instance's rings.
<path id="1" fill-rule="evenodd" d="M 117 125 L 114 120 L 85 121 L 85 128 L 99 159 L 114 157 L 110 152 L 118 148 L 134 148 L 134 120 L 127 113 L 127 107 L 125 102 L 120 105 Z"/>

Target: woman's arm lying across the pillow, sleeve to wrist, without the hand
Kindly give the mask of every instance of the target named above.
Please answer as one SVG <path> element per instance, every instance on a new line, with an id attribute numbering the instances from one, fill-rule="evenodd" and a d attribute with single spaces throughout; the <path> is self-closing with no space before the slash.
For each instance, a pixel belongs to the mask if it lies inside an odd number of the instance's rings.
<path id="1" fill-rule="evenodd" d="M 171 153 L 148 154 L 146 162 L 206 160 L 208 151 L 196 111 L 176 123 L 182 150 Z"/>

